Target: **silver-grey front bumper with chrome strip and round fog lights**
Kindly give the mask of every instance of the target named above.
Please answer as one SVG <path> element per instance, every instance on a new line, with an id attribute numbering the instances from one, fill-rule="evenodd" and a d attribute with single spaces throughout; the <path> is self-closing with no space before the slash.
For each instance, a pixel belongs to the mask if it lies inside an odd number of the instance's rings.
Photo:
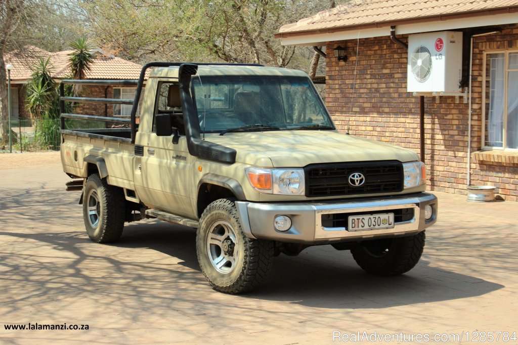
<path id="1" fill-rule="evenodd" d="M 424 217 L 424 208 L 430 205 L 433 215 Z M 251 203 L 236 202 L 243 232 L 250 238 L 269 239 L 281 242 L 321 244 L 343 241 L 357 241 L 381 237 L 407 236 L 419 233 L 437 220 L 437 197 L 429 193 L 394 196 L 386 199 L 365 198 L 355 200 L 333 200 L 313 203 Z M 324 219 L 340 214 L 397 212 L 413 210 L 413 216 L 404 221 L 396 221 L 394 228 L 348 231 L 346 226 L 326 227 Z M 274 220 L 278 215 L 287 215 L 292 227 L 281 232 L 275 229 Z"/>

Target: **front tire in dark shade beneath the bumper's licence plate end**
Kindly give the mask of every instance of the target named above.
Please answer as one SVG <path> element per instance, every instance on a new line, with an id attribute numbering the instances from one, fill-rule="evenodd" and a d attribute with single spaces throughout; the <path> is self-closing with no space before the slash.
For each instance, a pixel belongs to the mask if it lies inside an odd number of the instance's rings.
<path id="1" fill-rule="evenodd" d="M 407 237 L 364 241 L 351 249 L 354 260 L 377 276 L 397 276 L 411 270 L 421 258 L 425 232 Z"/>

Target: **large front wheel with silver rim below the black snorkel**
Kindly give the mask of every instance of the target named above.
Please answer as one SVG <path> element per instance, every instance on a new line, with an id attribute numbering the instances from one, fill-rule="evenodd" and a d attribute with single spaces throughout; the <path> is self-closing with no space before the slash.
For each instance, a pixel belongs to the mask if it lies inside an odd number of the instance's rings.
<path id="1" fill-rule="evenodd" d="M 233 246 L 232 253 L 224 251 L 223 248 L 229 248 L 224 247 L 225 241 Z M 234 202 L 219 199 L 207 206 L 200 218 L 196 253 L 214 290 L 239 294 L 264 282 L 274 262 L 274 242 L 244 235 Z M 223 261 L 225 265 L 217 268 Z"/>

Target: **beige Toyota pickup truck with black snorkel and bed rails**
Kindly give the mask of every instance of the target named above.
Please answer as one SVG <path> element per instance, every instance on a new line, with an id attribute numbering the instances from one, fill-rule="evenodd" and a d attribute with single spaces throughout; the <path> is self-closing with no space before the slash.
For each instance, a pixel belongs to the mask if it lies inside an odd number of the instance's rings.
<path id="1" fill-rule="evenodd" d="M 103 83 L 137 85 L 135 99 L 63 92 Z M 89 116 L 67 102 L 133 109 Z M 139 80 L 65 80 L 61 109 L 63 169 L 88 236 L 114 242 L 146 218 L 195 228 L 199 266 L 223 293 L 255 289 L 275 256 L 318 245 L 350 250 L 371 274 L 403 274 L 437 219 L 419 156 L 339 133 L 302 71 L 155 62 Z"/>

